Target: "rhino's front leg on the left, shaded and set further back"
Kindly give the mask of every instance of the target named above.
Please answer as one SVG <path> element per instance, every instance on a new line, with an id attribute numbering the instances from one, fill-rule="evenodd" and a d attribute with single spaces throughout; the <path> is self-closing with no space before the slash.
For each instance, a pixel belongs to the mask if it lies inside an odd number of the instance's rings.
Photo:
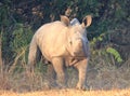
<path id="1" fill-rule="evenodd" d="M 57 83 L 58 83 L 60 87 L 65 87 L 66 74 L 65 74 L 65 66 L 64 66 L 63 58 L 54 57 L 52 59 L 52 64 L 53 64 L 54 70 L 56 72 Z"/>

